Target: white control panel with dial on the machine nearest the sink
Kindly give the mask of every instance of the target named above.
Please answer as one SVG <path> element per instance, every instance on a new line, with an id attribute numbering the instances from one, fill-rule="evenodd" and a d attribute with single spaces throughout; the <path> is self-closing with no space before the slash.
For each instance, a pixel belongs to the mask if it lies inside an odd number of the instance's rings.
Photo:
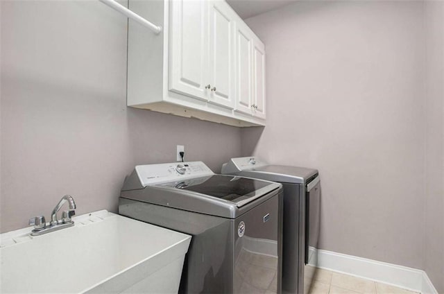
<path id="1" fill-rule="evenodd" d="M 135 167 L 142 186 L 175 182 L 214 175 L 203 162 L 173 162 L 169 164 L 146 164 Z"/>

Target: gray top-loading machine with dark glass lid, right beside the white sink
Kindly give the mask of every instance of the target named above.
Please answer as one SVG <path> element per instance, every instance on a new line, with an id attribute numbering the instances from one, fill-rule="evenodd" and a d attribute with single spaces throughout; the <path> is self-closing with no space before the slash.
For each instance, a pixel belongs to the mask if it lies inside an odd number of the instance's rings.
<path id="1" fill-rule="evenodd" d="M 119 214 L 192 236 L 179 293 L 281 293 L 281 184 L 203 162 L 136 166 Z"/>

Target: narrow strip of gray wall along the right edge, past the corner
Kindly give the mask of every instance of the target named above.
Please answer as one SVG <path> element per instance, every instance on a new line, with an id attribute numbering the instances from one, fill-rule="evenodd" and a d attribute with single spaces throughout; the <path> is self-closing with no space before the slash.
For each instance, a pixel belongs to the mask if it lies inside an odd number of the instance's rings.
<path id="1" fill-rule="evenodd" d="M 427 37 L 425 271 L 444 293 L 444 2 L 425 2 Z"/>

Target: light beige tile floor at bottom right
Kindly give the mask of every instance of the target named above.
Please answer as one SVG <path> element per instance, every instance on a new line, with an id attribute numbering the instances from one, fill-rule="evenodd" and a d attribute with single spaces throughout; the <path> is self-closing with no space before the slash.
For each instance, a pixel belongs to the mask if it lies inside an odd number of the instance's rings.
<path id="1" fill-rule="evenodd" d="M 395 286 L 318 269 L 309 294 L 415 294 Z"/>

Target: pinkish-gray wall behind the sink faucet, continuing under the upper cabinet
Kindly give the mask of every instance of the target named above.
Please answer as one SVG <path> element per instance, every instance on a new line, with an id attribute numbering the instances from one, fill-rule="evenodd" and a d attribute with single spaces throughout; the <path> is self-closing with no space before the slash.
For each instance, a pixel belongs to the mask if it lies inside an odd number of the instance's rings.
<path id="1" fill-rule="evenodd" d="M 116 211 L 125 175 L 175 161 L 176 144 L 219 171 L 240 134 L 126 107 L 126 19 L 103 3 L 1 1 L 1 232 L 65 193 L 78 214 Z"/>

